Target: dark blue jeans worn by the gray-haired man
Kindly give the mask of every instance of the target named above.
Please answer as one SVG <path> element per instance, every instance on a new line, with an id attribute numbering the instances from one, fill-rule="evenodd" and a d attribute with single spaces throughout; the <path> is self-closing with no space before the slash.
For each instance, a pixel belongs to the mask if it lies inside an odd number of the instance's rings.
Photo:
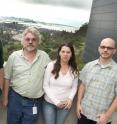
<path id="1" fill-rule="evenodd" d="M 30 99 L 10 89 L 7 124 L 36 124 L 41 112 L 42 102 L 43 97 Z M 33 111 L 33 107 L 37 107 L 37 112 Z"/>

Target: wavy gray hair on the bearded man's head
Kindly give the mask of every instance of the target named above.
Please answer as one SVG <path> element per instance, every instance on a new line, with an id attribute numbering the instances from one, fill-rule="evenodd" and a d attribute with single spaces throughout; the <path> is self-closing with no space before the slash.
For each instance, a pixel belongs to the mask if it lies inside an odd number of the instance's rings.
<path id="1" fill-rule="evenodd" d="M 37 41 L 41 43 L 41 34 L 35 27 L 26 28 L 23 32 L 22 40 L 24 40 L 24 37 L 27 33 L 32 33 L 36 37 Z"/>

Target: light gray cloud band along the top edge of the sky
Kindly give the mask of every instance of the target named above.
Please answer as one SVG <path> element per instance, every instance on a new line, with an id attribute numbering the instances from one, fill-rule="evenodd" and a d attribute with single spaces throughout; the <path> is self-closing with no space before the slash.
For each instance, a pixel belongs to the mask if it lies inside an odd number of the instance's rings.
<path id="1" fill-rule="evenodd" d="M 92 0 L 20 0 L 31 4 L 51 4 L 75 8 L 90 9 Z"/>

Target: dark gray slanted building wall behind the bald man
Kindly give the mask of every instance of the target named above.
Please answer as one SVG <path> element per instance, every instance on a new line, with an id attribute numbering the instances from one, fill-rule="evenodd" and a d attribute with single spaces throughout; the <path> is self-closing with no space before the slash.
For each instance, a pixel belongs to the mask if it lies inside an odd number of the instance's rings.
<path id="1" fill-rule="evenodd" d="M 84 51 L 85 62 L 98 57 L 97 47 L 105 37 L 117 41 L 117 0 L 93 0 Z M 117 55 L 114 59 L 117 61 Z"/>

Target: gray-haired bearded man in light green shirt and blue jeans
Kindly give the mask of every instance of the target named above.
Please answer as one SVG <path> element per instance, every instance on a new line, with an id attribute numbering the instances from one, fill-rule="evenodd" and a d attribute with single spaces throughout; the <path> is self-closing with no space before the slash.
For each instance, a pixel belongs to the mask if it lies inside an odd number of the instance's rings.
<path id="1" fill-rule="evenodd" d="M 23 32 L 23 49 L 13 52 L 5 64 L 3 105 L 8 106 L 7 124 L 36 124 L 43 100 L 43 76 L 50 61 L 36 28 Z"/>

